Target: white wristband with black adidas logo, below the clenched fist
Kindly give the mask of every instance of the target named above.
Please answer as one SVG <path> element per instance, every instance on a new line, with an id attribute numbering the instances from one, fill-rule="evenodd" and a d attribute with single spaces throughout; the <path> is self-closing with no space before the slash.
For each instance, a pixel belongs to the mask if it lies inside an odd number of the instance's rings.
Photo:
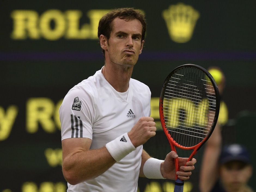
<path id="1" fill-rule="evenodd" d="M 136 148 L 132 144 L 127 133 L 117 137 L 106 144 L 106 148 L 116 161 L 120 161 Z"/>

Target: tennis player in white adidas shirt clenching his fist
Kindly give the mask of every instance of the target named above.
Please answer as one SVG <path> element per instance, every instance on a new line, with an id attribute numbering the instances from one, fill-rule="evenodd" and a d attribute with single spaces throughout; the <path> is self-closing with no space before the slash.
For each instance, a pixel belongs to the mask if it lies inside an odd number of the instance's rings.
<path id="1" fill-rule="evenodd" d="M 144 16 L 133 8 L 112 10 L 99 21 L 105 65 L 69 90 L 59 110 L 68 191 L 136 192 L 139 176 L 175 179 L 175 158 L 180 179 L 194 169 L 195 159 L 186 163 L 172 151 L 159 160 L 143 150 L 156 135 L 151 92 L 131 75 L 145 31 Z"/>

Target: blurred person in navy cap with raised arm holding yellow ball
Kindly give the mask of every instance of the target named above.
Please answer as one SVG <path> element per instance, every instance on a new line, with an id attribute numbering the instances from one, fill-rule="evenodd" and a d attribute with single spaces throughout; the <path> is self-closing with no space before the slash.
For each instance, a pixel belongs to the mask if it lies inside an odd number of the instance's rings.
<path id="1" fill-rule="evenodd" d="M 208 69 L 214 77 L 220 95 L 224 91 L 225 77 L 220 69 Z M 252 165 L 247 149 L 239 144 L 222 148 L 221 126 L 215 129 L 205 144 L 200 170 L 200 192 L 252 192 L 247 185 L 252 176 Z"/>

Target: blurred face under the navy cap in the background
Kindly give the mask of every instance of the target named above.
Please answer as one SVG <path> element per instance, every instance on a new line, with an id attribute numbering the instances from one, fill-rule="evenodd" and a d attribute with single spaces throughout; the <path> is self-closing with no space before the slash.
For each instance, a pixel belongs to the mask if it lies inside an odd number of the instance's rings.
<path id="1" fill-rule="evenodd" d="M 236 191 L 245 186 L 251 177 L 252 167 L 240 161 L 231 161 L 221 165 L 220 177 L 224 187 Z"/>

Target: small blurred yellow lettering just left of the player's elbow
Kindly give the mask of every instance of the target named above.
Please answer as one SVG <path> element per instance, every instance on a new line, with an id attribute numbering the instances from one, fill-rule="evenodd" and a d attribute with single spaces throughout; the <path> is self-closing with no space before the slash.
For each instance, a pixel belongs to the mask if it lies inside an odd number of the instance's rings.
<path id="1" fill-rule="evenodd" d="M 46 160 L 48 164 L 51 167 L 56 167 L 58 165 L 62 165 L 62 150 L 61 149 L 51 149 L 47 148 L 44 151 L 44 155 L 46 157 Z"/>

